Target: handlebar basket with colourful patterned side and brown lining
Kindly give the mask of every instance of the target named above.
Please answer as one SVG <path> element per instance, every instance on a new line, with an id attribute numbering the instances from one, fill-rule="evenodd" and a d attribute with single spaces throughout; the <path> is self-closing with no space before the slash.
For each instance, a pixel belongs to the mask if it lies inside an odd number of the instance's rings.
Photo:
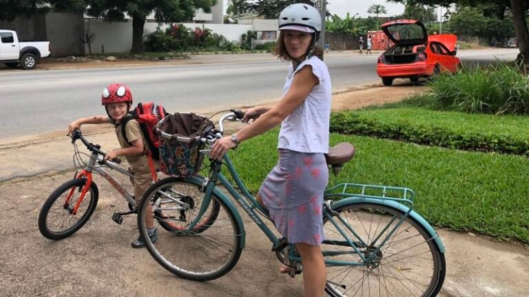
<path id="1" fill-rule="evenodd" d="M 166 175 L 191 177 L 204 162 L 200 142 L 206 131 L 214 129 L 209 118 L 196 113 L 168 113 L 156 126 L 160 136 L 160 171 Z"/>

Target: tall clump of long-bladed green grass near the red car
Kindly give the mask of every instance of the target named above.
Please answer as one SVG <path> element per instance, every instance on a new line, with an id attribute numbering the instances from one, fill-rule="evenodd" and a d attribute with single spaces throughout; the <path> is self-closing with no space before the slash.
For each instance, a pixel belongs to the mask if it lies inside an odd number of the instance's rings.
<path id="1" fill-rule="evenodd" d="M 499 64 L 443 74 L 429 84 L 442 109 L 467 113 L 529 114 L 529 78 L 519 67 Z"/>

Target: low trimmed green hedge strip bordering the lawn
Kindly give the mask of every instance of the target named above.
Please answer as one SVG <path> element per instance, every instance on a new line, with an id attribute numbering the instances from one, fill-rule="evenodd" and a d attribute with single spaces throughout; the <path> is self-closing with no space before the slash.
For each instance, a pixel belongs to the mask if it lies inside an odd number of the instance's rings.
<path id="1" fill-rule="evenodd" d="M 465 151 L 529 155 L 529 118 L 466 115 L 419 108 L 331 115 L 331 132 L 368 135 Z"/>

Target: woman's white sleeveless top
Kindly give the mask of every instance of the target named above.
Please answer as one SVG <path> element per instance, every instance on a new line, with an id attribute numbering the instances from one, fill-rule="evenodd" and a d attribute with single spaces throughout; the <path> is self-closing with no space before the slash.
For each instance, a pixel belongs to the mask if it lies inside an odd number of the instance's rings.
<path id="1" fill-rule="evenodd" d="M 278 148 L 300 153 L 329 153 L 329 121 L 331 120 L 331 77 L 329 69 L 317 56 L 303 61 L 297 69 L 289 67 L 283 96 L 289 91 L 295 74 L 303 67 L 312 68 L 320 83 L 309 96 L 281 123 Z"/>

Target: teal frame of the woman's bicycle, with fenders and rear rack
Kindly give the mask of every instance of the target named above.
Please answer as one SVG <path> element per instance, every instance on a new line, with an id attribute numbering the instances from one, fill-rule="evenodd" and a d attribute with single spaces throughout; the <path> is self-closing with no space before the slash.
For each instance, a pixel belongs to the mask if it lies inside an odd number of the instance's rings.
<path id="1" fill-rule="evenodd" d="M 222 121 L 225 119 L 229 119 L 231 115 L 224 115 L 219 123 L 220 123 L 220 131 L 224 131 Z M 231 117 L 233 119 L 233 117 Z M 222 132 L 221 132 L 222 133 Z M 200 151 L 200 153 L 204 153 L 205 155 L 209 155 L 208 150 Z M 245 245 L 245 228 L 242 224 L 242 219 L 240 217 L 240 213 L 238 210 L 234 207 L 233 203 L 228 199 L 224 193 L 220 192 L 220 190 L 216 189 L 216 183 L 217 181 L 220 181 L 220 184 L 224 186 L 231 197 L 233 197 L 237 203 L 242 207 L 242 209 L 247 212 L 249 217 L 258 225 L 260 230 L 269 238 L 271 243 L 273 243 L 273 249 L 280 246 L 280 239 L 273 234 L 273 232 L 267 227 L 266 224 L 262 221 L 262 219 L 259 217 L 258 212 L 256 212 L 256 208 L 264 214 L 268 218 L 269 214 L 267 210 L 264 210 L 259 203 L 256 201 L 256 198 L 253 197 L 253 195 L 250 194 L 249 190 L 246 188 L 245 184 L 242 182 L 242 179 L 240 179 L 236 169 L 234 168 L 234 165 L 231 162 L 231 159 L 229 158 L 228 154 L 225 154 L 223 157 L 222 162 L 217 161 L 211 161 L 211 177 L 209 179 L 203 180 L 203 191 L 205 192 L 205 196 L 203 199 L 203 203 L 200 207 L 200 210 L 194 219 L 192 221 L 187 231 L 191 231 L 195 228 L 196 224 L 200 221 L 201 217 L 205 214 L 209 203 L 211 203 L 211 194 L 214 192 L 216 196 L 218 196 L 220 199 L 222 199 L 226 205 L 233 210 L 234 215 L 236 217 L 236 220 L 240 223 L 240 226 L 242 228 L 242 234 L 238 236 L 242 236 L 241 240 L 241 248 L 244 248 Z M 225 164 L 229 175 L 234 179 L 236 186 L 240 189 L 240 192 L 242 192 L 242 195 L 236 190 L 233 184 L 231 184 L 228 179 L 222 175 L 221 172 L 221 166 L 222 163 Z M 354 188 L 360 188 L 360 193 L 351 192 L 351 189 Z M 366 191 L 369 190 L 377 190 L 380 193 L 379 195 L 368 195 Z M 397 192 L 397 197 L 391 197 L 391 192 Z M 366 263 L 371 263 L 377 256 L 377 254 L 380 252 L 384 244 L 388 241 L 388 239 L 395 234 L 400 229 L 400 226 L 408 217 L 412 217 L 415 221 L 417 221 L 419 224 L 423 225 L 424 228 L 428 231 L 430 234 L 430 238 L 428 241 L 434 241 L 435 245 L 437 245 L 437 248 L 440 252 L 444 253 L 445 248 L 444 245 L 439 239 L 439 236 L 437 235 L 437 232 L 433 229 L 433 227 L 424 219 L 422 218 L 417 212 L 413 210 L 413 197 L 414 192 L 411 189 L 408 188 L 396 188 L 396 187 L 388 187 L 388 186 L 370 186 L 370 185 L 361 185 L 361 184 L 339 184 L 338 186 L 333 186 L 331 188 L 328 188 L 325 191 L 324 194 L 324 207 L 322 208 L 323 217 L 324 219 L 331 222 L 337 230 L 339 230 L 340 234 L 343 236 L 344 241 L 343 242 L 336 242 L 336 241 L 323 241 L 322 245 L 346 245 L 351 246 L 353 248 L 350 252 L 329 252 L 322 249 L 322 252 L 324 256 L 338 256 L 340 254 L 357 254 L 360 256 L 360 261 L 358 262 L 351 262 L 351 261 L 333 261 L 329 259 L 325 259 L 325 265 L 328 266 L 363 266 L 366 265 Z M 331 207 L 331 200 L 332 199 L 338 199 L 338 201 L 333 202 L 333 206 Z M 350 203 L 373 203 L 373 204 L 380 204 L 383 206 L 388 206 L 390 208 L 395 208 L 397 210 L 400 210 L 402 212 L 402 216 L 400 219 L 395 223 L 393 228 L 390 226 L 397 220 L 397 217 L 394 216 L 393 219 L 391 219 L 390 223 L 386 224 L 386 227 L 383 228 L 383 230 L 375 237 L 373 243 L 371 243 L 370 246 L 365 243 L 361 236 L 355 232 L 354 228 L 349 225 L 344 219 L 342 219 L 340 216 L 338 218 L 340 219 L 340 223 L 345 226 L 346 230 L 342 230 L 340 228 L 340 225 L 335 221 L 333 217 L 335 217 L 335 212 L 333 209 L 338 209 L 341 206 L 346 206 Z M 388 230 L 390 229 L 391 230 Z M 386 233 L 386 231 L 388 231 Z M 385 233 L 385 235 L 383 235 Z M 352 236 L 350 236 L 352 234 Z M 353 238 L 351 238 L 353 237 Z M 380 242 L 379 242 L 380 241 Z M 376 246 L 374 246 L 376 245 Z M 368 254 L 364 254 L 364 252 L 360 251 L 360 248 L 370 248 L 371 252 Z M 287 264 L 289 261 L 293 261 L 294 263 L 301 263 L 300 255 L 295 252 L 295 248 L 293 244 L 289 244 L 288 249 L 288 257 L 285 256 L 285 261 L 287 261 Z"/>

